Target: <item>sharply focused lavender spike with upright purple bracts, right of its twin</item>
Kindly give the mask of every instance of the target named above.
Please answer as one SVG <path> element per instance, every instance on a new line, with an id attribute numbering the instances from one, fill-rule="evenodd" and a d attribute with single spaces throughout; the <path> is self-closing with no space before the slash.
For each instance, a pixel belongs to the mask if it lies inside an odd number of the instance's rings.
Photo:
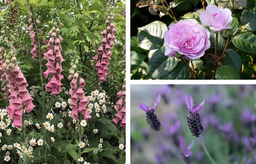
<path id="1" fill-rule="evenodd" d="M 203 132 L 203 126 L 197 112 L 203 108 L 205 99 L 203 99 L 203 102 L 200 103 L 198 107 L 197 105 L 194 105 L 191 95 L 187 95 L 185 101 L 187 104 L 187 108 L 189 109 L 189 113 L 187 116 L 188 127 L 190 128 L 192 135 L 198 137 Z"/>

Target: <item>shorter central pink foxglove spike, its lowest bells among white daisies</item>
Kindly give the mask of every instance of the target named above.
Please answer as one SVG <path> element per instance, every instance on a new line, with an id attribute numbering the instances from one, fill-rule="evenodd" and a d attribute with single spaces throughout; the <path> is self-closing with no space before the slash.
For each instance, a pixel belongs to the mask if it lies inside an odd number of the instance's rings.
<path id="1" fill-rule="evenodd" d="M 72 79 L 70 82 L 71 90 L 69 91 L 69 95 L 71 96 L 72 103 L 72 118 L 79 120 L 79 113 L 84 115 L 84 119 L 87 120 L 91 118 L 86 106 L 88 104 L 87 98 L 85 97 L 85 93 L 83 91 L 83 87 L 85 87 L 85 81 L 83 78 L 78 79 L 78 73 L 75 72 L 76 64 L 78 64 L 78 60 L 76 58 L 76 51 L 69 51 L 70 56 L 73 56 L 73 59 L 70 63 L 71 68 L 69 69 L 69 80 Z"/>

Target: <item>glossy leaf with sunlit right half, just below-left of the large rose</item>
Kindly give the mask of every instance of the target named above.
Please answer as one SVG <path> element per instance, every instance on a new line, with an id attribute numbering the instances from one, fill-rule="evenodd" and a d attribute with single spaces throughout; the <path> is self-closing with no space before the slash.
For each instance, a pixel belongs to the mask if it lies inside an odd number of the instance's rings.
<path id="1" fill-rule="evenodd" d="M 169 74 L 178 64 L 176 57 L 165 56 L 165 48 L 161 48 L 151 56 L 148 62 L 148 77 L 161 78 Z"/>

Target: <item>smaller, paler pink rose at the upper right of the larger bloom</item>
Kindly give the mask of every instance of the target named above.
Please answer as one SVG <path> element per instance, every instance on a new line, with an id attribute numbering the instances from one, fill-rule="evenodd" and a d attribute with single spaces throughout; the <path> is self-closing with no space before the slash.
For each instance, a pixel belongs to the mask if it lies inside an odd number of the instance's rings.
<path id="1" fill-rule="evenodd" d="M 213 31 L 224 31 L 230 28 L 232 22 L 231 11 L 226 8 L 218 8 L 216 5 L 208 5 L 200 14 L 200 20 L 205 26 L 210 26 Z"/>

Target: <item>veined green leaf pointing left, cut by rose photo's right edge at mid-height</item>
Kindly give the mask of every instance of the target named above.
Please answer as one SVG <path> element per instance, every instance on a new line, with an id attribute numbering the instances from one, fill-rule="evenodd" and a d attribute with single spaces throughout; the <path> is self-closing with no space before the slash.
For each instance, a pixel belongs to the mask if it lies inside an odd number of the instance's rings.
<path id="1" fill-rule="evenodd" d="M 256 35 L 251 32 L 242 32 L 232 38 L 233 44 L 242 51 L 255 53 L 256 52 Z"/>

